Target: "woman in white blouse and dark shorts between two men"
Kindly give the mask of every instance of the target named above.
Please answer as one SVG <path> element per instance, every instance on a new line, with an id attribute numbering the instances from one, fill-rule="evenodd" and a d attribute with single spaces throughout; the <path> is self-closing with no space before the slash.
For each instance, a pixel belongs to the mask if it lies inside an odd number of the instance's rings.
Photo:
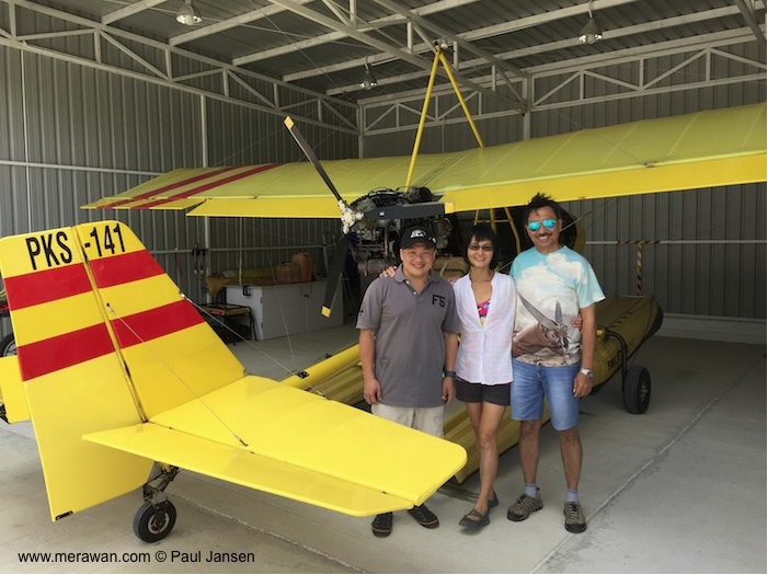
<path id="1" fill-rule="evenodd" d="M 495 272 L 497 240 L 493 230 L 477 225 L 467 232 L 463 257 L 469 274 L 454 284 L 461 320 L 461 344 L 456 359 L 456 399 L 467 404 L 480 456 L 480 494 L 472 510 L 460 521 L 478 529 L 491 519 L 498 505 L 493 488 L 498 468 L 496 433 L 509 405 L 512 383 L 512 332 L 517 295 L 507 274 Z"/>

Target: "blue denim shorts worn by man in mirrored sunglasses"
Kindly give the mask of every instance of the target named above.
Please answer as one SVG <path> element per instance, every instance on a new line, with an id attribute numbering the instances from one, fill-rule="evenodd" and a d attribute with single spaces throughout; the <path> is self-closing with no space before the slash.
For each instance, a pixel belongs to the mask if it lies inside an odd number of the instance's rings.
<path id="1" fill-rule="evenodd" d="M 552 427 L 564 432 L 578 423 L 578 400 L 573 396 L 573 380 L 581 363 L 562 367 L 545 367 L 512 360 L 512 418 L 520 422 L 540 419 L 545 398 Z"/>

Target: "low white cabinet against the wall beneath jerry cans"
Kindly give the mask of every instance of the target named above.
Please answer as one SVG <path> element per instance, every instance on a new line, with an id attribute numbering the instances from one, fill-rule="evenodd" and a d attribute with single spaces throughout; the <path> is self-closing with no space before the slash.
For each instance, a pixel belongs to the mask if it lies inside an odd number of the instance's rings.
<path id="1" fill-rule="evenodd" d="M 256 340 L 335 327 L 344 322 L 341 304 L 330 318 L 322 314 L 328 281 L 276 286 L 227 286 L 227 303 L 248 306 L 253 314 Z M 340 298 L 341 299 L 341 298 Z"/>

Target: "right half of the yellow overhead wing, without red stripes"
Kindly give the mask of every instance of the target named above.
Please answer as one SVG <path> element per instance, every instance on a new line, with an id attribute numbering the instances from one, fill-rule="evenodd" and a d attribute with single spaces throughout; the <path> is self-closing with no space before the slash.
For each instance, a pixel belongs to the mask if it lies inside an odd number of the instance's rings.
<path id="1" fill-rule="evenodd" d="M 766 104 L 467 152 L 432 182 L 458 211 L 766 181 Z"/>

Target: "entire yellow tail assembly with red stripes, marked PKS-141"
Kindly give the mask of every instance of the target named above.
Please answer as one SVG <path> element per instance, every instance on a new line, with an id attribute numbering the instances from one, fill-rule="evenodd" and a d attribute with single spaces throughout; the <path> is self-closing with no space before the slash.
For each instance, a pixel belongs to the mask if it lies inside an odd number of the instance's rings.
<path id="1" fill-rule="evenodd" d="M 121 222 L 3 238 L 0 273 L 54 519 L 146 484 L 154 462 L 354 516 L 419 505 L 466 462 L 455 444 L 244 375 Z"/>

